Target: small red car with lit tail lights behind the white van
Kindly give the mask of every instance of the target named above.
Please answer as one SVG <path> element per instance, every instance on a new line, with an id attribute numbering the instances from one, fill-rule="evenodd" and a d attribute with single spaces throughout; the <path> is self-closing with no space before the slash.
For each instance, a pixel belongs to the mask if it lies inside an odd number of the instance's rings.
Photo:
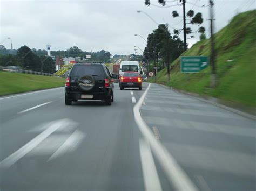
<path id="1" fill-rule="evenodd" d="M 142 76 L 138 72 L 125 72 L 120 77 L 120 90 L 124 88 L 139 88 L 142 90 Z"/>

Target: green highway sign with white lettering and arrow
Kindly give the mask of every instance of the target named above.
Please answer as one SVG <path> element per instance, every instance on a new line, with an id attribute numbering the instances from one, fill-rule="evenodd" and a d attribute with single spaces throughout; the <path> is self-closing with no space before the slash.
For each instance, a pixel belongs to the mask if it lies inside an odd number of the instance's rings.
<path id="1" fill-rule="evenodd" d="M 208 56 L 181 56 L 180 72 L 196 73 L 209 65 Z"/>

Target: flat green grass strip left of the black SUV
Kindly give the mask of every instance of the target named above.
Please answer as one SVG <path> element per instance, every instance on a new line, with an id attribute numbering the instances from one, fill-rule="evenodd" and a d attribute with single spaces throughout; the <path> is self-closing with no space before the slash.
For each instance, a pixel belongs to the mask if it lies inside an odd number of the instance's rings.
<path id="1" fill-rule="evenodd" d="M 65 84 L 65 79 L 59 77 L 10 72 L 0 72 L 0 81 L 0 95 L 62 87 Z"/>

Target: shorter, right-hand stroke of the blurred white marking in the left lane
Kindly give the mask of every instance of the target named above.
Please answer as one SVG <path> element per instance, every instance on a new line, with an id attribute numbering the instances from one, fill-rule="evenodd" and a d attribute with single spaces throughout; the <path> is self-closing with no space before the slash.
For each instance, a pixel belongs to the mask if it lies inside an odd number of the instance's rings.
<path id="1" fill-rule="evenodd" d="M 84 137 L 84 133 L 77 129 L 68 139 L 65 140 L 65 142 L 57 149 L 57 151 L 55 151 L 55 153 L 51 155 L 47 161 L 55 159 L 58 156 L 63 155 L 65 152 L 75 150 Z"/>

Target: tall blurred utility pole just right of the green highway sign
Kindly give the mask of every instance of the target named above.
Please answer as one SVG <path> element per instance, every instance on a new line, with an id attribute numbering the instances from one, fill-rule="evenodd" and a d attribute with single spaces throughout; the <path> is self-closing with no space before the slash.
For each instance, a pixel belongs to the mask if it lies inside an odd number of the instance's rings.
<path id="1" fill-rule="evenodd" d="M 210 55 L 210 65 L 212 66 L 212 76 L 211 76 L 211 87 L 215 88 L 217 84 L 217 76 L 216 76 L 216 64 L 215 64 L 215 42 L 214 42 L 214 24 L 213 24 L 213 0 L 209 0 L 210 3 L 210 30 L 211 30 L 211 55 Z"/>

